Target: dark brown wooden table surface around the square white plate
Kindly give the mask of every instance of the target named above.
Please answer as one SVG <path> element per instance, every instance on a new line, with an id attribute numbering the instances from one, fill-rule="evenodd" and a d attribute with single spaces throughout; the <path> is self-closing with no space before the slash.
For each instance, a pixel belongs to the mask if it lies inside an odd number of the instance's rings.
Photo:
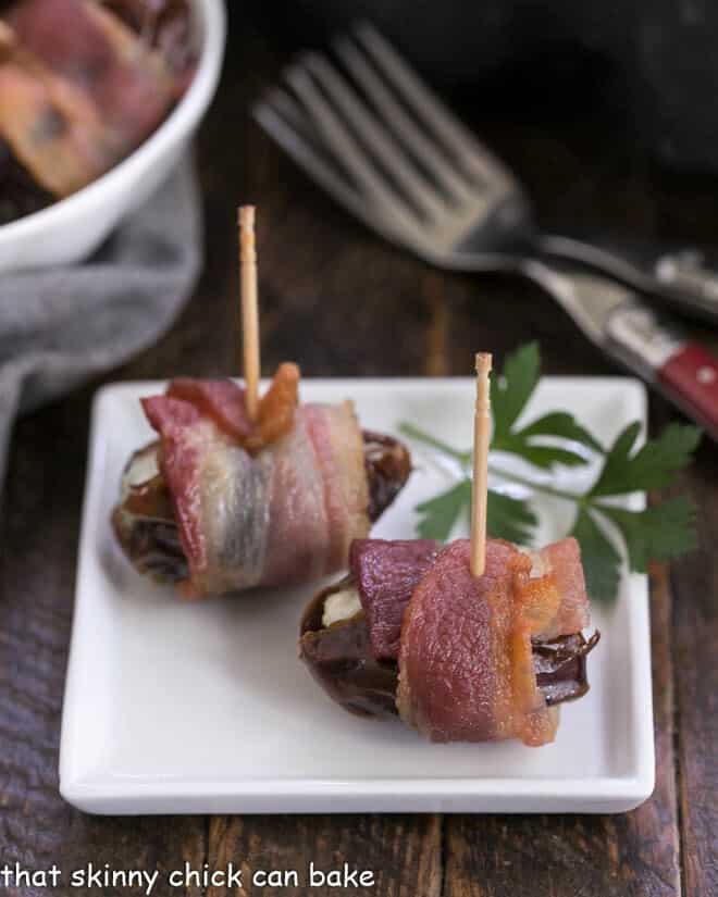
<path id="1" fill-rule="evenodd" d="M 261 210 L 265 372 L 296 359 L 309 376 L 467 374 L 478 346 L 491 347 L 500 363 L 518 344 L 538 339 L 548 373 L 618 373 L 537 289 L 432 270 L 381 241 L 315 188 L 247 114 L 282 62 L 235 16 L 222 87 L 199 140 L 203 275 L 172 331 L 107 381 L 237 370 L 239 201 Z M 468 112 L 479 119 L 478 108 Z M 654 170 L 618 125 L 614 132 L 584 114 L 570 123 L 485 121 L 481 127 L 528 185 L 546 226 L 573 221 L 715 241 L 718 182 Z M 704 336 L 713 338 L 707 329 Z M 681 483 L 700 509 L 702 548 L 652 573 L 657 784 L 634 812 L 122 819 L 66 806 L 58 793 L 58 743 L 88 416 L 98 385 L 25 418 L 14 436 L 0 565 L 0 865 L 72 869 L 92 861 L 168 870 L 184 860 L 199 868 L 234 860 L 292 869 L 309 859 L 325 867 L 346 859 L 373 870 L 376 884 L 342 893 L 382 897 L 718 894 L 718 465 L 709 443 Z M 673 416 L 659 398 L 651 413 L 654 426 Z M 104 890 L 115 893 L 128 892 Z"/>

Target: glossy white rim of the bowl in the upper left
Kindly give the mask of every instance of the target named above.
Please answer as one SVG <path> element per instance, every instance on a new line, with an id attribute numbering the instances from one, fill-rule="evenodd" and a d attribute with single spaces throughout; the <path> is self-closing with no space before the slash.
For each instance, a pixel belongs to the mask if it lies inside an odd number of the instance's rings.
<path id="1" fill-rule="evenodd" d="M 201 27 L 197 71 L 187 92 L 164 122 L 128 157 L 76 194 L 1 225 L 0 245 L 4 240 L 29 236 L 38 228 L 61 226 L 63 221 L 70 221 L 83 208 L 86 210 L 102 202 L 107 194 L 112 194 L 126 178 L 132 179 L 135 173 L 149 169 L 196 126 L 212 101 L 219 82 L 226 38 L 226 12 L 224 0 L 191 0 L 190 5 Z"/>

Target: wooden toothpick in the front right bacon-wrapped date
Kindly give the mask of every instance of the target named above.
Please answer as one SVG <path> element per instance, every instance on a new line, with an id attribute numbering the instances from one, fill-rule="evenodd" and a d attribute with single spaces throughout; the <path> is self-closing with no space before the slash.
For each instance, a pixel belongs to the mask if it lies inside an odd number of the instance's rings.
<path id="1" fill-rule="evenodd" d="M 473 416 L 473 489 L 471 498 L 471 574 L 483 576 L 486 569 L 486 499 L 488 495 L 488 431 L 491 399 L 488 375 L 491 354 L 476 353 L 476 404 Z"/>

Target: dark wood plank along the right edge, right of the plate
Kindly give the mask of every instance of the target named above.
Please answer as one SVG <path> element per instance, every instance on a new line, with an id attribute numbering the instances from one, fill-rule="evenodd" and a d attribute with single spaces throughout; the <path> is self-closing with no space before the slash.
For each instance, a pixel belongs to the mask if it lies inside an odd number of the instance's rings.
<path id="1" fill-rule="evenodd" d="M 673 568 L 678 751 L 686 897 L 718 894 L 718 470 L 705 445 L 684 486 L 700 508 L 700 550 Z"/>

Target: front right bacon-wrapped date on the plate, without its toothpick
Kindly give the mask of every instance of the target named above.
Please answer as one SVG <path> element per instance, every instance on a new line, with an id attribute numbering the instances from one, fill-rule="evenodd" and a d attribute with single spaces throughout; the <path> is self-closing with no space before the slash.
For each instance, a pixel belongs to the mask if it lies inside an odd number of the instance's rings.
<path id="1" fill-rule="evenodd" d="M 578 543 L 527 552 L 359 539 L 347 577 L 307 608 L 300 656 L 346 710 L 398 715 L 434 742 L 552 742 L 558 705 L 589 689 L 590 607 Z"/>

